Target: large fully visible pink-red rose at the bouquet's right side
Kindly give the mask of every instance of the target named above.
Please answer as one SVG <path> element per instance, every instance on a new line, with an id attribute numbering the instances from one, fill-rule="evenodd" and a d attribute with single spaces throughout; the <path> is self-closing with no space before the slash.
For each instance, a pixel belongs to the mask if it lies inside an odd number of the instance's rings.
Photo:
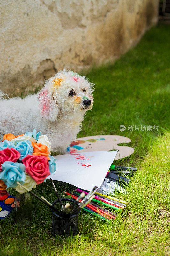
<path id="1" fill-rule="evenodd" d="M 50 175 L 48 158 L 46 156 L 27 155 L 22 159 L 22 162 L 26 167 L 26 173 L 37 184 L 42 183 Z"/>

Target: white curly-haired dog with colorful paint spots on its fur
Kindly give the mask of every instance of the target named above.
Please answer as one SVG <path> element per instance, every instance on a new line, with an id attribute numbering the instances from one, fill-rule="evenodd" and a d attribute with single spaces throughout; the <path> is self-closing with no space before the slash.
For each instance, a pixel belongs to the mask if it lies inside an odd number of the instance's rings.
<path id="1" fill-rule="evenodd" d="M 63 70 L 45 82 L 38 94 L 4 99 L 0 91 L 0 140 L 6 133 L 45 134 L 54 151 L 65 153 L 76 139 L 88 109 L 93 105 L 93 85 L 85 76 Z"/>

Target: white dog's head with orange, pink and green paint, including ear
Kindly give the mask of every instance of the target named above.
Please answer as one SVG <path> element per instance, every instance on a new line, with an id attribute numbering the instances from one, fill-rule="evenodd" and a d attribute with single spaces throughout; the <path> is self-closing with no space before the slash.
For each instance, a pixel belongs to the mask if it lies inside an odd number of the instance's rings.
<path id="1" fill-rule="evenodd" d="M 93 84 L 72 71 L 58 72 L 39 94 L 41 116 L 55 121 L 58 114 L 84 116 L 93 105 Z"/>

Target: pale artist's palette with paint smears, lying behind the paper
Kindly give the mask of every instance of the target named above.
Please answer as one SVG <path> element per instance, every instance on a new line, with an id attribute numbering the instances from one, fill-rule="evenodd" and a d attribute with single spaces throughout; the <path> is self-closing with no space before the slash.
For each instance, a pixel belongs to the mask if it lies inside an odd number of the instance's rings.
<path id="1" fill-rule="evenodd" d="M 119 146 L 120 143 L 129 143 L 131 140 L 120 135 L 94 135 L 74 140 L 70 144 L 70 153 L 83 153 L 89 151 L 118 150 L 115 160 L 130 156 L 134 148 Z"/>

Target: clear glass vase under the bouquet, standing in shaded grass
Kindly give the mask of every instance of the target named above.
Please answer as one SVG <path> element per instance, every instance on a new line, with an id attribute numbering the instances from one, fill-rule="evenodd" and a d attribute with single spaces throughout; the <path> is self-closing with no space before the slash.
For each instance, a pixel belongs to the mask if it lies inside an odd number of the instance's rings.
<path id="1" fill-rule="evenodd" d="M 27 227 L 32 220 L 32 197 L 28 192 L 15 196 L 16 222 L 18 225 Z"/>

